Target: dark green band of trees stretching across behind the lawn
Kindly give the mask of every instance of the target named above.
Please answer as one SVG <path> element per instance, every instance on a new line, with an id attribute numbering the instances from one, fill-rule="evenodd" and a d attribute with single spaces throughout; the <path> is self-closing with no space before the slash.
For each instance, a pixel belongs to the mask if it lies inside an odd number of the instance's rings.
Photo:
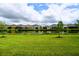
<path id="1" fill-rule="evenodd" d="M 69 25 L 69 24 L 67 24 Z M 58 21 L 58 23 L 56 24 L 55 28 L 53 27 L 53 29 L 47 29 L 46 27 L 44 27 L 44 29 L 22 29 L 21 27 L 8 27 L 6 26 L 6 24 L 4 22 L 0 22 L 0 33 L 21 33 L 21 32 L 27 32 L 27 31 L 43 31 L 43 32 L 47 32 L 47 31 L 55 31 L 55 33 L 63 33 L 63 32 L 79 32 L 79 20 L 76 21 L 76 23 L 74 24 L 74 28 L 69 28 L 69 27 L 64 27 L 64 23 L 62 21 Z"/>

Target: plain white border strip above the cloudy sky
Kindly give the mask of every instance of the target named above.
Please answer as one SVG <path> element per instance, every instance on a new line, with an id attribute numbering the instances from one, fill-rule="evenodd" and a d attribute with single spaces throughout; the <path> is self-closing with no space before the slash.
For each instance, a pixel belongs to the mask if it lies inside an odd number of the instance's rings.
<path id="1" fill-rule="evenodd" d="M 79 3 L 79 0 L 0 0 L 0 3 Z"/>

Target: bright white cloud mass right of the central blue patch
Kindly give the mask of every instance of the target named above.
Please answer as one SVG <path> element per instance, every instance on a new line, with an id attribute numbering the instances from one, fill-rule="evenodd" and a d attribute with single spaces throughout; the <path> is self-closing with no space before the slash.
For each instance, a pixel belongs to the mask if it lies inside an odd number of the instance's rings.
<path id="1" fill-rule="evenodd" d="M 56 21 L 62 20 L 66 24 L 73 23 L 74 20 L 79 18 L 79 10 L 77 8 L 67 8 L 72 5 L 79 4 L 49 4 L 49 9 L 42 11 L 42 14 L 43 16 L 54 17 Z"/>

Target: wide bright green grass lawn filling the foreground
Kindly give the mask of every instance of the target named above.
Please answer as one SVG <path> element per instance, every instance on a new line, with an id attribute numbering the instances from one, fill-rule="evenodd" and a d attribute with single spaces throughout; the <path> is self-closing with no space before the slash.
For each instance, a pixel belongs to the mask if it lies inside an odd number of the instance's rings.
<path id="1" fill-rule="evenodd" d="M 1 35 L 0 35 L 1 36 Z M 79 35 L 5 35 L 0 38 L 2 56 L 79 56 Z"/>

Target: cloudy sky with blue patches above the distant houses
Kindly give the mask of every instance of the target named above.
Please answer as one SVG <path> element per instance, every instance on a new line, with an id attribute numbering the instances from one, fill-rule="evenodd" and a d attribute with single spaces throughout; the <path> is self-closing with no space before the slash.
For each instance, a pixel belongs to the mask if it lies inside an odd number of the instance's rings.
<path id="1" fill-rule="evenodd" d="M 0 3 L 0 21 L 6 24 L 64 24 L 79 19 L 79 3 Z"/>

